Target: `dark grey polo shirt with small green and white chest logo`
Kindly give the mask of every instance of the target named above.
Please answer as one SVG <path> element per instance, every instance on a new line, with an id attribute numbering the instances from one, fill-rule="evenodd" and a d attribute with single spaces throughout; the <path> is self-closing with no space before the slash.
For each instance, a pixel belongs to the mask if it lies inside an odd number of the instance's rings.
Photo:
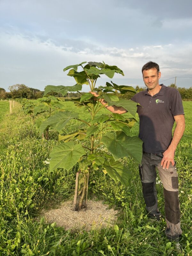
<path id="1" fill-rule="evenodd" d="M 147 153 L 165 151 L 172 141 L 174 116 L 184 115 L 180 93 L 172 87 L 164 86 L 153 97 L 148 90 L 139 92 L 132 100 L 140 103 L 137 113 L 140 119 L 139 138 Z"/>

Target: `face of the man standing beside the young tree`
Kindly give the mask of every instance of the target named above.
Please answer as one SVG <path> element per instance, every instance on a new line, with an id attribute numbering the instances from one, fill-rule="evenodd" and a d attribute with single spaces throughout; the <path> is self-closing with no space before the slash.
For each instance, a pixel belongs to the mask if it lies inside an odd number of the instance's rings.
<path id="1" fill-rule="evenodd" d="M 159 79 L 161 77 L 161 72 L 157 73 L 156 68 L 151 68 L 148 70 L 143 70 L 143 81 L 147 86 L 148 90 L 154 89 L 159 85 Z"/>

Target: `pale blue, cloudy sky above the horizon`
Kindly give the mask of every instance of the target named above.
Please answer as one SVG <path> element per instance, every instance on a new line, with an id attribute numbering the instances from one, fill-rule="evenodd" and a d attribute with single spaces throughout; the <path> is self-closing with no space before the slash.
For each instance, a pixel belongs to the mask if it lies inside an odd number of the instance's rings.
<path id="1" fill-rule="evenodd" d="M 124 71 L 113 79 L 101 77 L 98 85 L 112 80 L 144 86 L 141 68 L 154 61 L 160 83 L 170 85 L 176 76 L 176 85 L 188 88 L 191 10 L 191 0 L 0 0 L 0 87 L 74 85 L 63 68 L 83 61 L 104 61 Z"/>

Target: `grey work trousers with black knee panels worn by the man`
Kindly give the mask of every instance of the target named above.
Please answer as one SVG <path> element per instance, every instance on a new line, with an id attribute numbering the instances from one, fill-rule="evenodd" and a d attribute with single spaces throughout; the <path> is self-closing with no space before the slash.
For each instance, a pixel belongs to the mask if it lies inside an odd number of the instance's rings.
<path id="1" fill-rule="evenodd" d="M 182 234 L 180 228 L 179 182 L 176 165 L 170 164 L 168 169 L 161 166 L 162 153 L 143 153 L 139 165 L 143 197 L 146 210 L 151 216 L 159 217 L 161 213 L 157 206 L 156 168 L 164 187 L 164 208 L 167 228 L 165 235 L 170 241 L 178 241 Z"/>

